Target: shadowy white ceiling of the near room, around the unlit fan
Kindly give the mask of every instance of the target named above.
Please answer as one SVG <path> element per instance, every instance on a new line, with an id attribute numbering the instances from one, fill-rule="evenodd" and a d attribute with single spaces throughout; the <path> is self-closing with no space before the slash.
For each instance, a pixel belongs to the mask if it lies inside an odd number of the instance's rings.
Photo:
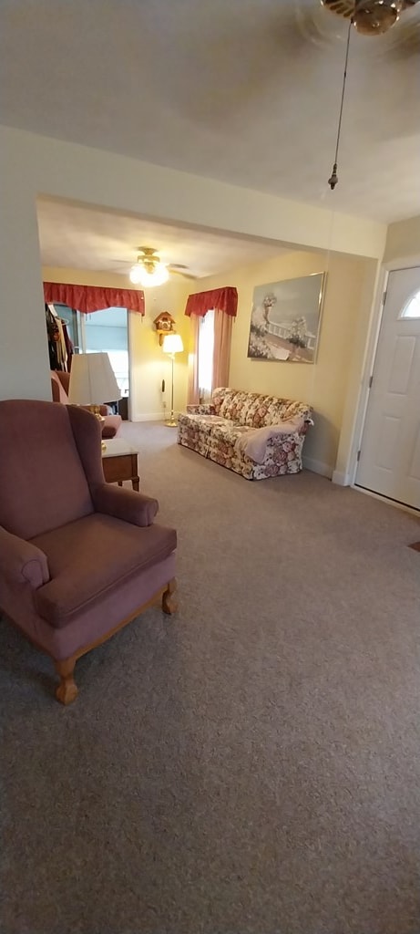
<path id="1" fill-rule="evenodd" d="M 346 24 L 319 0 L 2 0 L 0 122 L 310 203 Z M 420 213 L 420 5 L 352 31 L 335 205 Z"/>

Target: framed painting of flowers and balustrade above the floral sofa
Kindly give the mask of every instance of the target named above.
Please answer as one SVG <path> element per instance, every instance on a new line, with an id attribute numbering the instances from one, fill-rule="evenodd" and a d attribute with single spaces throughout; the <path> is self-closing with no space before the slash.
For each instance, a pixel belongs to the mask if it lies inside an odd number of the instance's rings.
<path id="1" fill-rule="evenodd" d="M 314 363 L 325 278 L 314 273 L 254 289 L 248 357 Z"/>

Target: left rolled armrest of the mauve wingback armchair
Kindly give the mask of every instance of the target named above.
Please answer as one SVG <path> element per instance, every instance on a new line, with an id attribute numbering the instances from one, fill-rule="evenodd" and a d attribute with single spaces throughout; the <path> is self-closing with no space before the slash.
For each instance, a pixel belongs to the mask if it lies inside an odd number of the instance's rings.
<path id="1" fill-rule="evenodd" d="M 18 535 L 0 526 L 0 568 L 15 584 L 28 583 L 34 589 L 49 582 L 47 555 Z"/>

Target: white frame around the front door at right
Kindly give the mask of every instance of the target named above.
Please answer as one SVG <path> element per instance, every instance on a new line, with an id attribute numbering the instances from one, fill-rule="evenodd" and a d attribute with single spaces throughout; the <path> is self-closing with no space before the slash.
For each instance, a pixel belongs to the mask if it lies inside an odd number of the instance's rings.
<path id="1" fill-rule="evenodd" d="M 356 483 L 357 475 L 357 464 L 358 459 L 357 455 L 361 449 L 363 432 L 365 429 L 366 416 L 368 412 L 368 403 L 369 403 L 369 393 L 371 389 L 371 376 L 373 375 L 373 369 L 376 361 L 376 353 L 379 343 L 379 335 L 381 333 L 382 319 L 384 317 L 384 308 L 385 308 L 385 298 L 386 291 L 388 286 L 388 278 L 390 273 L 399 272 L 399 270 L 404 269 L 420 269 L 420 256 L 410 257 L 407 260 L 393 260 L 390 262 L 385 262 L 380 271 L 379 280 L 378 280 L 378 293 L 377 298 L 374 303 L 374 310 L 371 318 L 371 328 L 368 335 L 367 341 L 367 352 L 366 352 L 366 364 L 363 370 L 362 382 L 361 382 L 361 391 L 359 394 L 359 400 L 357 405 L 357 417 L 356 417 L 356 429 L 354 435 L 354 450 L 355 457 L 351 470 L 351 479 L 350 486 L 357 490 L 357 492 L 365 493 L 368 496 L 373 496 L 377 500 L 382 500 L 383 502 L 389 502 L 393 506 L 397 506 L 399 509 L 404 509 L 406 512 L 412 512 L 415 516 L 418 517 L 418 509 L 414 509 L 412 506 L 407 506 L 404 503 L 396 502 L 395 500 L 389 500 L 386 496 L 383 496 L 382 493 L 374 493 L 372 490 L 365 489 L 363 487 L 358 487 Z"/>

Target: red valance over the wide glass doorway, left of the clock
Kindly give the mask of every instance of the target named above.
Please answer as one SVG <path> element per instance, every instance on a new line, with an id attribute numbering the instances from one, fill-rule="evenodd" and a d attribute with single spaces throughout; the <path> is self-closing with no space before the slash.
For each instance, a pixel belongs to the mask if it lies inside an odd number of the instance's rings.
<path id="1" fill-rule="evenodd" d="M 90 315 L 103 308 L 128 308 L 145 314 L 145 293 L 137 289 L 103 289 L 101 286 L 75 286 L 63 282 L 44 282 L 44 300 L 59 302 Z"/>

